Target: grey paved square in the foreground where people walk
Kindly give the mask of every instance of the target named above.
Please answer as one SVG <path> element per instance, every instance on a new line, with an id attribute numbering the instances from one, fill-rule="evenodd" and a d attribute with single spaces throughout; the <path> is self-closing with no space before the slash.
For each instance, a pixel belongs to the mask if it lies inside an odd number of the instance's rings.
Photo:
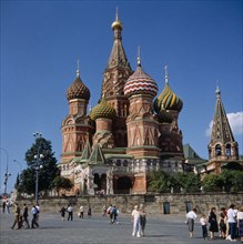
<path id="1" fill-rule="evenodd" d="M 118 225 L 109 224 L 108 217 L 93 215 L 83 220 L 74 216 L 73 221 L 61 221 L 60 215 L 41 213 L 40 228 L 11 230 L 13 214 L 0 213 L 1 244 L 205 244 L 231 243 L 221 238 L 204 241 L 201 236 L 199 221 L 195 224 L 194 237 L 189 238 L 184 215 L 148 216 L 144 237 L 132 236 L 132 224 L 129 215 L 121 215 Z M 235 242 L 240 243 L 240 242 Z"/>

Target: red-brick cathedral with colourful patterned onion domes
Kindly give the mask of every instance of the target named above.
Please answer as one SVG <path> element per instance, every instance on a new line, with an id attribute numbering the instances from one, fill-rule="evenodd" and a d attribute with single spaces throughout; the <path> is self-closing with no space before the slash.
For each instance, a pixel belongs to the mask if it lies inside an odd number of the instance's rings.
<path id="1" fill-rule="evenodd" d="M 61 176 L 74 185 L 67 195 L 144 194 L 150 172 L 182 172 L 186 164 L 178 123 L 183 102 L 170 87 L 166 68 L 164 89 L 159 93 L 156 82 L 142 69 L 140 54 L 135 71 L 131 69 L 118 13 L 111 27 L 113 47 L 99 103 L 88 109 L 91 94 L 79 68 L 67 90 L 69 114 L 61 124 L 59 163 Z M 237 143 L 232 142 L 231 129 L 227 131 L 227 151 L 233 143 L 234 156 L 239 159 Z M 219 152 L 217 141 L 209 145 L 213 160 L 214 152 Z M 213 165 L 211 162 L 210 166 Z"/>

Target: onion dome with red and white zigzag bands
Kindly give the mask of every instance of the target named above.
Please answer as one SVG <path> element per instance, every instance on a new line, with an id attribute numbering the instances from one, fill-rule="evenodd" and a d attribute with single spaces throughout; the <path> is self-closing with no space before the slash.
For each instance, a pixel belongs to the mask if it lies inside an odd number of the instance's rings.
<path id="1" fill-rule="evenodd" d="M 155 81 L 142 70 L 140 58 L 138 58 L 138 68 L 125 82 L 124 94 L 126 96 L 134 94 L 146 94 L 154 98 L 156 93 L 158 85 Z"/>

